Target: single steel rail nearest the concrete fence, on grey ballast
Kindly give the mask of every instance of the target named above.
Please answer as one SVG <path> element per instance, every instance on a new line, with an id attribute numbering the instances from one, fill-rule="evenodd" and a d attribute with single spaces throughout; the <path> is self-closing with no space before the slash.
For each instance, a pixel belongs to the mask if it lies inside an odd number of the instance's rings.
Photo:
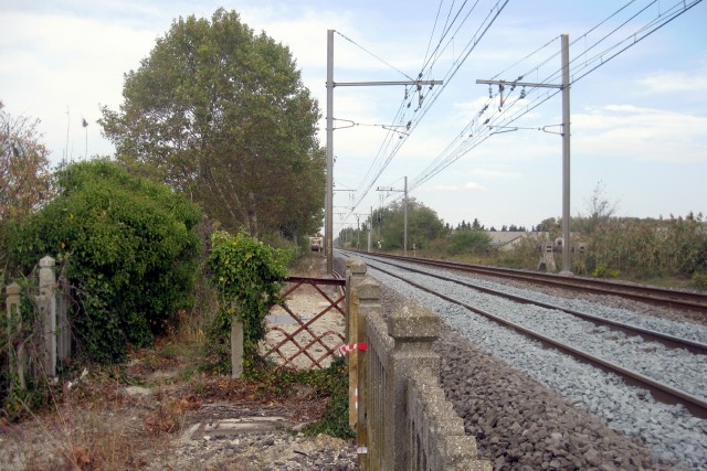
<path id="1" fill-rule="evenodd" d="M 422 291 L 429 292 L 430 295 L 436 296 L 441 299 L 444 299 L 447 302 L 461 306 L 472 312 L 475 312 L 477 314 L 481 314 L 489 320 L 493 320 L 494 322 L 497 322 L 506 328 L 513 329 L 514 331 L 520 332 L 526 336 L 529 336 L 531 339 L 538 340 L 540 341 L 544 345 L 549 345 L 549 346 L 553 346 L 562 352 L 568 353 L 569 355 L 587 362 L 587 363 L 591 363 L 592 365 L 605 371 L 605 372 L 610 372 L 610 373 L 614 373 L 618 374 L 619 376 L 623 377 L 626 382 L 629 382 L 630 384 L 640 386 L 642 388 L 648 389 L 652 394 L 652 396 L 656 399 L 659 400 L 662 403 L 665 404 L 679 404 L 683 405 L 684 407 L 686 407 L 688 410 L 690 410 L 690 413 L 693 413 L 694 416 L 703 418 L 703 419 L 707 419 L 707 402 L 700 397 L 697 397 L 695 395 L 692 395 L 689 393 L 686 393 L 684 390 L 679 390 L 677 388 L 674 388 L 673 386 L 669 386 L 665 383 L 662 383 L 659 381 L 653 379 L 648 376 L 645 376 L 641 373 L 624 368 L 621 365 L 616 365 L 612 362 L 608 362 L 603 358 L 600 358 L 598 356 L 591 355 L 587 352 L 582 352 L 581 350 L 574 349 L 570 345 L 563 344 L 559 341 L 556 341 L 547 335 L 544 335 L 539 332 L 536 332 L 531 329 L 527 329 L 524 328 L 520 324 L 517 324 L 515 322 L 510 322 L 508 320 L 505 320 L 498 315 L 492 314 L 490 312 L 486 312 L 482 309 L 478 308 L 474 308 L 473 306 L 466 304 L 462 301 L 458 301 L 456 299 L 453 299 L 449 296 L 442 295 L 440 292 L 434 291 L 433 289 L 426 288 L 422 285 L 415 283 L 413 281 L 410 281 L 409 279 L 405 279 L 404 277 L 401 277 L 399 275 L 394 275 L 388 270 L 381 269 L 381 268 L 377 268 L 377 267 L 371 267 L 372 269 L 379 270 L 386 275 L 389 275 L 391 277 L 398 278 Z"/>

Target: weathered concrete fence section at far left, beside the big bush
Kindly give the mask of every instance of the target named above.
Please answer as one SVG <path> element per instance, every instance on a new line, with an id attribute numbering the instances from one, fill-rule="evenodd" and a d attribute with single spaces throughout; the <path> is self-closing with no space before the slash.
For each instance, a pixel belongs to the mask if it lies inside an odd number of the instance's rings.
<path id="1" fill-rule="evenodd" d="M 64 280 L 56 281 L 55 261 L 52 257 L 40 260 L 39 318 L 34 325 L 23 329 L 20 309 L 21 289 L 17 282 L 6 288 L 8 312 L 8 360 L 10 371 L 15 372 L 18 386 L 24 388 L 25 375 L 31 372 L 36 378 L 56 375 L 57 361 L 71 354 L 71 329 L 68 325 L 68 288 Z M 31 336 L 25 336 L 31 332 Z"/>

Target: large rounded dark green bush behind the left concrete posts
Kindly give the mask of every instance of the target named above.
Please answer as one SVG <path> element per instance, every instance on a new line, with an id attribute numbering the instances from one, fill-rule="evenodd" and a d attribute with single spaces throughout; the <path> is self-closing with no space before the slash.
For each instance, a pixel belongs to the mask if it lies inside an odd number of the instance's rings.
<path id="1" fill-rule="evenodd" d="M 71 322 L 78 349 L 94 361 L 119 361 L 189 306 L 200 211 L 107 160 L 65 168 L 57 186 L 60 195 L 20 228 L 14 258 L 29 271 L 55 257 L 77 301 Z"/>

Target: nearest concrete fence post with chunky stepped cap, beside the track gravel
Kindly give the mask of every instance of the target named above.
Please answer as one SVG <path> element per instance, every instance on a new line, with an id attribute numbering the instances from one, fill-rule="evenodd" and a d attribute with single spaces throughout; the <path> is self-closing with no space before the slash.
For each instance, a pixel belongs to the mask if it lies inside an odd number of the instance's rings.
<path id="1" fill-rule="evenodd" d="M 386 393 L 386 462 L 391 469 L 405 470 L 411 467 L 407 437 L 407 387 L 408 373 L 425 368 L 432 377 L 440 374 L 440 357 L 433 344 L 440 335 L 440 318 L 418 302 L 411 301 L 388 319 L 388 334 L 394 340 L 390 356 L 389 385 Z"/>

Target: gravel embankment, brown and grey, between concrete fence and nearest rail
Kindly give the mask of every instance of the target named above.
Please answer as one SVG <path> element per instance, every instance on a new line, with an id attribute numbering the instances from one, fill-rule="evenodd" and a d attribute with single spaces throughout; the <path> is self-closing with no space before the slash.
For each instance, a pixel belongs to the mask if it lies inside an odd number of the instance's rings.
<path id="1" fill-rule="evenodd" d="M 383 311 L 416 299 L 444 320 L 441 384 L 495 469 L 707 469 L 707 421 L 400 280 L 369 274 L 384 285 Z"/>

